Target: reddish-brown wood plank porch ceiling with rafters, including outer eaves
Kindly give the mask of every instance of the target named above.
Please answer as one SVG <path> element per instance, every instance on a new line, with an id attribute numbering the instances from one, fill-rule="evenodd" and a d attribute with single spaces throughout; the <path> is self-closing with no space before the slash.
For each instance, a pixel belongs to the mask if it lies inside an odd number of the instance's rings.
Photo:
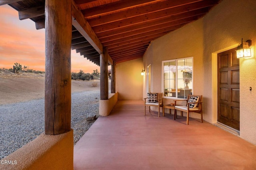
<path id="1" fill-rule="evenodd" d="M 113 61 L 143 57 L 150 42 L 202 18 L 220 0 L 74 0 Z M 45 0 L 0 0 L 44 28 Z M 61 2 L 60 2 L 61 3 Z M 72 49 L 100 65 L 99 53 L 72 29 Z"/>

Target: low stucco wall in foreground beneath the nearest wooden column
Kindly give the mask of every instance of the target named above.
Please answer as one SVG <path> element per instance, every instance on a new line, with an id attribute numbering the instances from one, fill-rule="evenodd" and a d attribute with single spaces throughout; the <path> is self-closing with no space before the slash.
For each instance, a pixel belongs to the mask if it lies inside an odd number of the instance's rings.
<path id="1" fill-rule="evenodd" d="M 40 135 L 0 160 L 4 170 L 73 170 L 73 130 L 61 135 Z"/>

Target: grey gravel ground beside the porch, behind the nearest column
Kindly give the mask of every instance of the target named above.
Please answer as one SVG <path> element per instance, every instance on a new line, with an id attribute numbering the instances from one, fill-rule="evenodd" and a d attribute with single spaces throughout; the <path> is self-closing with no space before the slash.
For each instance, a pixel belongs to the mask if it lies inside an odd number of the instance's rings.
<path id="1" fill-rule="evenodd" d="M 94 123 L 87 115 L 99 116 L 100 91 L 72 94 L 71 128 L 74 145 Z M 44 133 L 44 99 L 0 105 L 0 159 Z"/>

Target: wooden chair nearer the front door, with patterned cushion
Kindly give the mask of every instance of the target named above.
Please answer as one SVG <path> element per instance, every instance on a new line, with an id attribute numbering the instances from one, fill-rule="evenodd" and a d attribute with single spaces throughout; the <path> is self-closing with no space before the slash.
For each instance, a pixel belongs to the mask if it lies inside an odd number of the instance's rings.
<path id="1" fill-rule="evenodd" d="M 198 98 L 198 100 L 195 100 L 195 98 Z M 178 101 L 184 101 L 186 100 L 186 106 L 178 105 Z M 187 125 L 188 125 L 188 118 L 189 113 L 200 113 L 201 114 L 201 123 L 203 123 L 203 110 L 202 110 L 202 95 L 192 95 L 188 94 L 187 99 L 183 100 L 174 100 L 174 117 L 177 116 L 177 110 L 181 111 L 181 116 L 183 116 L 183 111 L 187 112 Z"/>

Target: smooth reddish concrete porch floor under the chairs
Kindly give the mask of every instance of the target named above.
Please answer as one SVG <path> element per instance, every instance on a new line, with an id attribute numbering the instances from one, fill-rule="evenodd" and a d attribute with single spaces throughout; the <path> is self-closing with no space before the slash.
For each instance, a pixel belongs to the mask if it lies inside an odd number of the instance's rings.
<path id="1" fill-rule="evenodd" d="M 143 101 L 118 101 L 74 146 L 74 169 L 256 170 L 256 146 L 210 123 L 144 116 Z"/>

